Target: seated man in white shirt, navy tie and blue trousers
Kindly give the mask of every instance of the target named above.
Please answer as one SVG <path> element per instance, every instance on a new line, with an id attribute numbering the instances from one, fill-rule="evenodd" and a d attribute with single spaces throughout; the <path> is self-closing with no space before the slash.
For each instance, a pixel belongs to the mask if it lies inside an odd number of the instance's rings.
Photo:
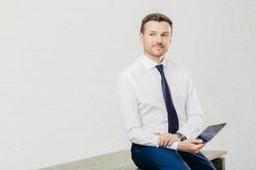
<path id="1" fill-rule="evenodd" d="M 119 75 L 119 103 L 131 140 L 131 158 L 141 169 L 214 170 L 200 152 L 201 105 L 189 72 L 166 59 L 172 20 L 148 14 L 139 39 L 143 54 Z"/>

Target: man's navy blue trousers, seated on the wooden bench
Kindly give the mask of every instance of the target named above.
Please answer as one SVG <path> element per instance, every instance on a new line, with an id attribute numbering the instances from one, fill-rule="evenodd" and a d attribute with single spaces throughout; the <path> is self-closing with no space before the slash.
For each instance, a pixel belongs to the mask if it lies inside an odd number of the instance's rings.
<path id="1" fill-rule="evenodd" d="M 216 170 L 201 152 L 193 154 L 132 144 L 131 159 L 143 170 Z"/>

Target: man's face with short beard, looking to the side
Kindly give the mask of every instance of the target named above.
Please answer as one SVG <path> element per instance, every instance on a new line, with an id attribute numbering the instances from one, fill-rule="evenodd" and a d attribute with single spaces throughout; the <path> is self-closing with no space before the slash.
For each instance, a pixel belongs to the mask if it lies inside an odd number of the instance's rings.
<path id="1" fill-rule="evenodd" d="M 166 54 L 171 43 L 172 28 L 165 21 L 148 21 L 144 25 L 144 32 L 140 33 L 144 53 L 148 57 L 160 58 Z"/>

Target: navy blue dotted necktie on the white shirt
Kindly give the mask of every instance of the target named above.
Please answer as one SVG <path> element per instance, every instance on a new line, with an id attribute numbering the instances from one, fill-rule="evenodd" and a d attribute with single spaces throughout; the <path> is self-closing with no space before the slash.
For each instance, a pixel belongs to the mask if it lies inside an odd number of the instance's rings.
<path id="1" fill-rule="evenodd" d="M 162 92 L 164 95 L 164 99 L 166 103 L 166 111 L 168 115 L 168 132 L 176 133 L 178 130 L 177 112 L 172 103 L 172 94 L 168 86 L 168 83 L 166 82 L 163 65 L 156 65 L 155 67 L 157 68 L 157 70 L 160 72 L 160 75 L 161 75 Z"/>

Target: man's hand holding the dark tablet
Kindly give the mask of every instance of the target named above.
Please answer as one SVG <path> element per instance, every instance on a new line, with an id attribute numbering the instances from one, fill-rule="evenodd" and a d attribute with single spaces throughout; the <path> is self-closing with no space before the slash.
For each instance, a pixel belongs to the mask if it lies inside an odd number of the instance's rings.
<path id="1" fill-rule="evenodd" d="M 198 153 L 204 145 L 201 139 L 186 139 L 177 144 L 177 150 Z"/>

